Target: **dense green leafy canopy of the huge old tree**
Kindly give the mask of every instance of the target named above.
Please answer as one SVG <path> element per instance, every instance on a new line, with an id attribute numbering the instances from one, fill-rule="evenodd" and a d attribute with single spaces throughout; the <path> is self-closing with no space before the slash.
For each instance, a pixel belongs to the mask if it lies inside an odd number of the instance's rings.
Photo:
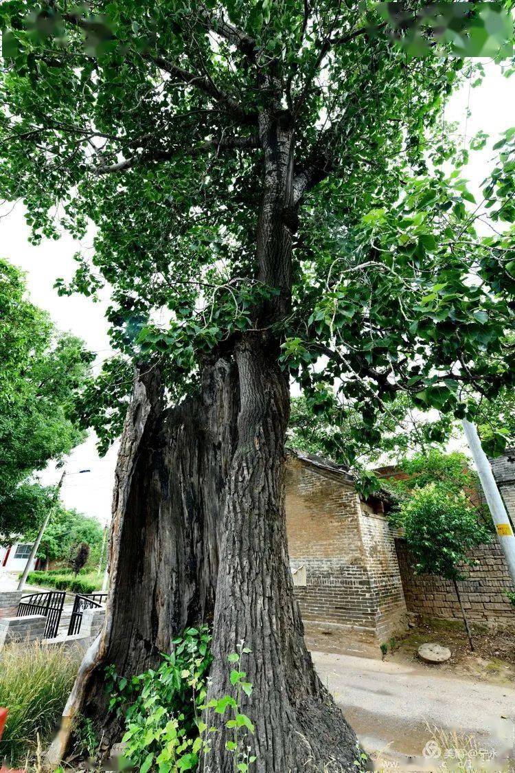
<path id="1" fill-rule="evenodd" d="M 109 282 L 114 345 L 172 398 L 284 292 L 283 367 L 336 384 L 365 434 L 399 390 L 462 416 L 513 383 L 515 131 L 474 202 L 442 123 L 462 60 L 412 58 L 372 2 L 7 0 L 0 22 L 2 194 L 35 241 L 97 226 L 59 291 Z M 295 131 L 286 289 L 256 259 L 263 115 Z M 481 237 L 485 212 L 505 230 Z M 125 379 L 103 380 L 105 444 Z"/>

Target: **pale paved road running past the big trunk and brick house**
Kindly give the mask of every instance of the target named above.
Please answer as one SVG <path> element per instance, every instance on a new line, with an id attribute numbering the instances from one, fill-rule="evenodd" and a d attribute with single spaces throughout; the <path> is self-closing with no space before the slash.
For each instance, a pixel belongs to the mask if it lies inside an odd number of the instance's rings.
<path id="1" fill-rule="evenodd" d="M 422 758 L 430 727 L 474 736 L 481 749 L 513 757 L 515 689 L 442 676 L 408 666 L 313 652 L 324 684 L 344 710 L 364 748 Z M 437 668 L 437 667 L 436 667 Z M 493 754 L 493 752 L 492 752 Z M 445 756 L 445 754 L 444 754 Z M 497 764 L 495 764 L 496 769 Z"/>

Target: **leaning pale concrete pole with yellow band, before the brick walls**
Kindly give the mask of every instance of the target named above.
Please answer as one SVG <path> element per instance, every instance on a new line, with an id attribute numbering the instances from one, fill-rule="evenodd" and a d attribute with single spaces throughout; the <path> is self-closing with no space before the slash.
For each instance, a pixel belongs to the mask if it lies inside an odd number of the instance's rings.
<path id="1" fill-rule="evenodd" d="M 515 586 L 515 536 L 513 536 L 510 519 L 506 512 L 500 491 L 497 488 L 496 480 L 493 477 L 490 461 L 488 461 L 488 458 L 483 451 L 483 446 L 479 440 L 476 426 L 466 419 L 463 419 L 462 424 L 470 451 L 476 463 L 479 480 L 483 486 L 483 492 L 485 492 L 486 502 L 488 502 L 493 523 L 495 523 L 496 532 L 499 536 L 504 555 L 506 556 L 510 577 L 513 581 L 513 586 Z"/>

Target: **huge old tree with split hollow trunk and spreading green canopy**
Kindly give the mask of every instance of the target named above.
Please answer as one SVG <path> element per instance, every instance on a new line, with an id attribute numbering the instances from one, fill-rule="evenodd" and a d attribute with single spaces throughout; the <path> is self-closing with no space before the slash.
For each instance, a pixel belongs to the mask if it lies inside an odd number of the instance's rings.
<path id="1" fill-rule="evenodd" d="M 124 358 L 138 372 L 107 624 L 54 751 L 78 712 L 109 745 L 105 666 L 141 672 L 206 620 L 212 696 L 230 690 L 236 643 L 252 650 L 256 769 L 353 770 L 354 733 L 293 598 L 289 378 L 320 404 L 337 383 L 371 435 L 398 390 L 459 414 L 466 390 L 509 380 L 510 237 L 480 239 L 465 183 L 438 171 L 462 62 L 412 59 L 367 3 L 8 0 L 0 16 L 0 187 L 23 198 L 35 240 L 95 224 L 61 291 L 113 288 L 122 357 L 97 383 L 107 438 Z M 512 141 L 488 189 L 505 220 Z M 212 721 L 205 764 L 227 771 Z"/>

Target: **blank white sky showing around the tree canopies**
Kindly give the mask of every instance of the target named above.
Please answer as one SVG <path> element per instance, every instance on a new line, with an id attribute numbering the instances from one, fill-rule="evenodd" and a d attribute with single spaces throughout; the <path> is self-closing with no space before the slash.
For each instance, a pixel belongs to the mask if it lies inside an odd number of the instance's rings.
<path id="1" fill-rule="evenodd" d="M 466 129 L 468 138 L 482 129 L 492 137 L 492 145 L 500 132 L 515 126 L 514 86 L 515 77 L 508 80 L 500 73 L 499 66 L 487 63 L 486 77 L 480 87 L 469 89 L 466 85 L 451 97 L 446 107 L 446 120 L 459 121 L 459 131 L 463 133 Z M 468 119 L 467 104 L 471 112 Z M 473 181 L 474 189 L 486 177 L 491 155 L 488 147 L 483 152 L 473 153 L 466 175 Z M 26 272 L 32 301 L 49 311 L 60 330 L 69 330 L 79 335 L 86 346 L 97 352 L 98 362 L 105 359 L 110 355 L 107 322 L 103 316 L 107 298 L 104 296 L 100 303 L 93 303 L 80 295 L 59 298 L 53 290 L 57 277 L 66 280 L 72 277 L 76 267 L 72 256 L 80 249 L 80 243 L 65 235 L 59 241 L 44 241 L 39 247 L 32 247 L 27 240 L 29 229 L 25 224 L 22 205 L 6 207 L 2 215 L 0 254 Z M 110 519 L 116 451 L 116 447 L 111 448 L 105 458 L 100 458 L 92 435 L 73 451 L 66 463 L 68 476 L 62 491 L 62 499 L 67 507 L 75 507 L 103 523 Z M 90 472 L 80 475 L 79 471 L 85 468 L 90 469 Z M 40 475 L 46 484 L 56 482 L 58 478 L 59 472 L 56 472 L 53 465 L 49 465 Z"/>

